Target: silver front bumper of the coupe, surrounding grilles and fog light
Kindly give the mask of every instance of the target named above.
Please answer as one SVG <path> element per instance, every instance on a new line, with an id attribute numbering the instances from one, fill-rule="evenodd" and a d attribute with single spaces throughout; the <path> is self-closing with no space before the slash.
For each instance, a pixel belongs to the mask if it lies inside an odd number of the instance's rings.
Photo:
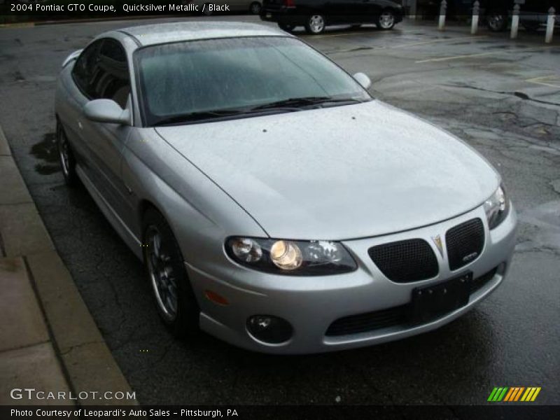
<path id="1" fill-rule="evenodd" d="M 484 248 L 468 265 L 451 271 L 447 252 L 437 251 L 432 238 L 450 228 L 481 218 L 484 223 Z M 256 272 L 237 265 L 225 256 L 224 264 L 200 269 L 186 263 L 190 281 L 200 304 L 200 327 L 220 339 L 253 351 L 266 353 L 318 353 L 352 349 L 409 337 L 439 328 L 472 309 L 495 290 L 505 278 L 515 246 L 517 215 L 514 208 L 498 228 L 489 230 L 482 207 L 442 223 L 424 228 L 367 239 L 343 241 L 358 263 L 358 269 L 333 276 L 279 276 Z M 395 283 L 374 265 L 367 250 L 372 246 L 405 239 L 425 239 L 437 257 L 439 274 L 432 279 Z M 445 244 L 443 244 L 445 250 Z M 494 272 L 493 270 L 496 269 Z M 491 273 L 473 291 L 468 304 L 423 324 L 402 323 L 348 335 L 326 335 L 339 318 L 372 311 L 403 307 L 411 302 L 412 290 L 472 272 L 475 279 Z M 207 290 L 218 293 L 228 304 L 216 304 Z M 246 329 L 248 317 L 255 314 L 279 316 L 293 326 L 293 336 L 281 344 L 255 339 Z"/>

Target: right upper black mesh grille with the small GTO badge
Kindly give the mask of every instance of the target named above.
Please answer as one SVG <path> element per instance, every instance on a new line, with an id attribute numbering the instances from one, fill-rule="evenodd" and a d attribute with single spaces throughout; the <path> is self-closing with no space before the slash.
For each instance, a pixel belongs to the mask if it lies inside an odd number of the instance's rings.
<path id="1" fill-rule="evenodd" d="M 445 234 L 449 268 L 459 269 L 476 260 L 484 246 L 484 225 L 479 218 L 456 225 Z"/>

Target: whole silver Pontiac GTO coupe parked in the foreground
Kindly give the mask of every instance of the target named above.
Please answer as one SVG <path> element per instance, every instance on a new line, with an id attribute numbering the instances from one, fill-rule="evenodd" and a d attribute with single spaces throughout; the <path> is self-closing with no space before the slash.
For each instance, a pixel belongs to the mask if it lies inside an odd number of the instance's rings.
<path id="1" fill-rule="evenodd" d="M 176 335 L 313 353 L 400 339 L 503 282 L 517 216 L 463 141 L 279 29 L 106 32 L 62 65 L 57 141 Z"/>

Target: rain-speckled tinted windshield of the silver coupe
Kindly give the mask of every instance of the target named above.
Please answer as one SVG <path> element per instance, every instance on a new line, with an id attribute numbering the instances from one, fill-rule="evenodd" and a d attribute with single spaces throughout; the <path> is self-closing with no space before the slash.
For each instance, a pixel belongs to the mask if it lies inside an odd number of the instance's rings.
<path id="1" fill-rule="evenodd" d="M 295 38 L 154 45 L 135 55 L 148 126 L 364 102 L 351 76 Z"/>

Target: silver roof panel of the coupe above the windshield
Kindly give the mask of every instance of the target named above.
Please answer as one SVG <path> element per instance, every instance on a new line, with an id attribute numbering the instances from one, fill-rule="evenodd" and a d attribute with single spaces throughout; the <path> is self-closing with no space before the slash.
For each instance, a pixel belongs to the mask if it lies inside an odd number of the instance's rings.
<path id="1" fill-rule="evenodd" d="M 119 29 L 137 39 L 142 46 L 208 38 L 238 36 L 290 36 L 286 32 L 265 25 L 247 22 L 172 22 L 140 25 Z"/>

